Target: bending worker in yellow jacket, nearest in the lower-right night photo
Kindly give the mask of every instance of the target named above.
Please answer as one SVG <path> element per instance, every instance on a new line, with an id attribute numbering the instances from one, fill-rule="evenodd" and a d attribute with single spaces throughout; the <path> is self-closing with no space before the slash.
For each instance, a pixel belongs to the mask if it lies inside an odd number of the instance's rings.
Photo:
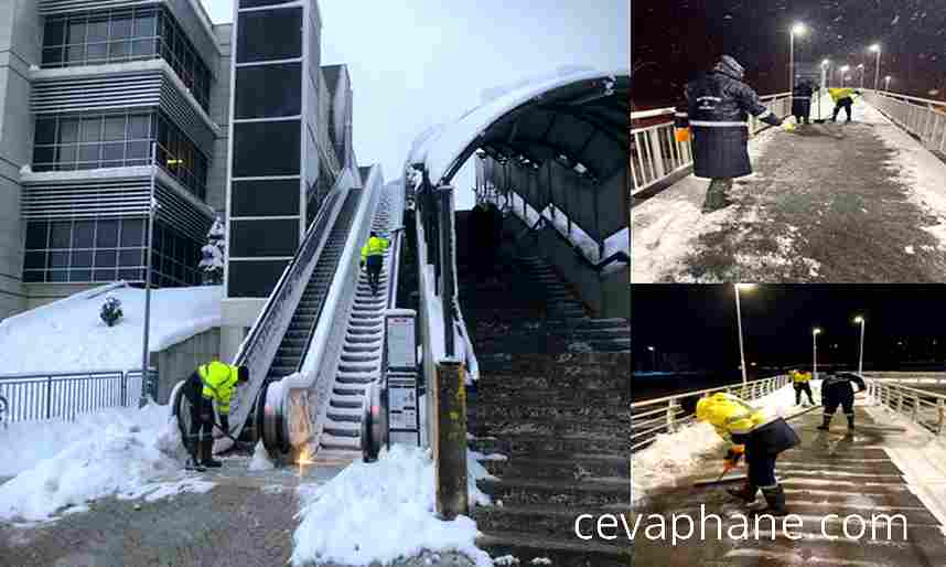
<path id="1" fill-rule="evenodd" d="M 732 443 L 725 456 L 727 468 L 734 467 L 742 454 L 749 468 L 742 489 L 729 491 L 746 504 L 755 502 L 762 489 L 767 507 L 761 513 L 787 514 L 785 491 L 775 478 L 778 453 L 798 445 L 798 435 L 781 417 L 768 417 L 732 394 L 713 394 L 697 403 L 697 419 L 708 421 Z"/>

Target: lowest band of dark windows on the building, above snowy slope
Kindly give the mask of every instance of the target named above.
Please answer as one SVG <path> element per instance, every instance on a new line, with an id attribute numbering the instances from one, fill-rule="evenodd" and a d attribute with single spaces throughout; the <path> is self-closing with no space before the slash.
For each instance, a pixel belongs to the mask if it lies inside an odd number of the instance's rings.
<path id="1" fill-rule="evenodd" d="M 23 281 L 90 284 L 144 281 L 146 218 L 30 221 Z M 200 284 L 201 243 L 154 223 L 152 282 L 162 287 Z"/>

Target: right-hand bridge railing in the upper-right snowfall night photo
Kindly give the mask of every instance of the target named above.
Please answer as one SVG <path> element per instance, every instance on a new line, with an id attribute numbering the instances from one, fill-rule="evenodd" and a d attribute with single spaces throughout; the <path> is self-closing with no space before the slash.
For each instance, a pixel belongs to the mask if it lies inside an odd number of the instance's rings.
<path id="1" fill-rule="evenodd" d="M 888 92 L 864 92 L 864 99 L 927 149 L 946 152 L 946 101 Z"/>

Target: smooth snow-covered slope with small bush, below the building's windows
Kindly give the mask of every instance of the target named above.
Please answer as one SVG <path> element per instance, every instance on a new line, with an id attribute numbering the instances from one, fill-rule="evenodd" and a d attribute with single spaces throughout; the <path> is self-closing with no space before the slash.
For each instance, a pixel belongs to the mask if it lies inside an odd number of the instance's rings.
<path id="1" fill-rule="evenodd" d="M 121 301 L 115 327 L 99 319 L 107 296 Z M 151 292 L 152 352 L 219 327 L 223 286 Z M 3 373 L 128 370 L 141 366 L 144 291 L 112 284 L 0 322 Z"/>

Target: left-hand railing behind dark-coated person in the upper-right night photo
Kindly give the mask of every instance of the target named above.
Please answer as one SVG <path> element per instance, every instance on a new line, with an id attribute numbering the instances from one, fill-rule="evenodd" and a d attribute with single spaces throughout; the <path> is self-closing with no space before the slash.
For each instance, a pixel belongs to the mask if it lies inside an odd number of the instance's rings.
<path id="1" fill-rule="evenodd" d="M 765 108 L 778 117 L 791 111 L 791 93 L 777 93 L 760 97 Z M 687 171 L 694 164 L 690 142 L 678 142 L 674 137 L 674 108 L 657 108 L 631 113 L 631 194 L 666 181 L 670 176 Z M 666 121 L 634 128 L 635 120 L 655 120 L 666 117 Z M 755 136 L 767 125 L 755 117 L 749 119 L 749 136 Z"/>

